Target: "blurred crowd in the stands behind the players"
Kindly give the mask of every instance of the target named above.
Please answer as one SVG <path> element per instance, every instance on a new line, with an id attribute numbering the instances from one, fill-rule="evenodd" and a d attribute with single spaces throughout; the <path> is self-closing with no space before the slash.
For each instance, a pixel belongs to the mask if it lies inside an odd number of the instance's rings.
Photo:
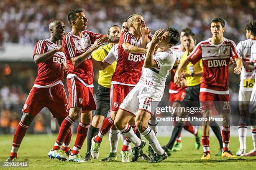
<path id="1" fill-rule="evenodd" d="M 256 16 L 255 0 L 1 0 L 0 55 L 7 43 L 34 47 L 38 40 L 48 38 L 48 25 L 54 19 L 64 21 L 69 32 L 67 15 L 76 8 L 84 10 L 89 19 L 87 29 L 94 32 L 107 34 L 111 25 L 121 26 L 129 15 L 141 13 L 153 33 L 159 28 L 188 27 L 195 32 L 198 42 L 211 37 L 210 20 L 222 17 L 226 21 L 224 36 L 236 44 L 245 40 L 244 26 Z M 15 131 L 36 75 L 34 62 L 0 60 L 0 133 Z M 95 70 L 95 90 L 97 77 Z M 238 100 L 239 80 L 230 67 L 231 100 Z M 169 78 L 162 105 L 168 103 L 168 88 Z M 43 109 L 41 113 L 31 125 L 30 133 L 55 132 L 57 127 L 50 112 Z"/>

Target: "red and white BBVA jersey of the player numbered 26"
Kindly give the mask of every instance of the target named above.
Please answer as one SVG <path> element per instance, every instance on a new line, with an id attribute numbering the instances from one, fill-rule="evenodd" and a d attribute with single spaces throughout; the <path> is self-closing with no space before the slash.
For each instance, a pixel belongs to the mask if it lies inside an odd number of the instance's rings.
<path id="1" fill-rule="evenodd" d="M 200 85 L 200 92 L 211 92 L 219 95 L 228 92 L 228 64 L 230 57 L 240 57 L 236 50 L 236 44 L 232 40 L 223 37 L 223 42 L 218 45 L 210 42 L 210 38 L 199 42 L 189 54 L 188 60 L 193 64 L 201 58 L 204 70 Z"/>

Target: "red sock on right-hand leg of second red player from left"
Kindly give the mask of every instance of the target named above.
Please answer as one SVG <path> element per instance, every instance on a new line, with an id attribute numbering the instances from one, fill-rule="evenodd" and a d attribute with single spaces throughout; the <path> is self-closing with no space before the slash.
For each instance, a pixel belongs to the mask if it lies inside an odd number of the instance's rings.
<path id="1" fill-rule="evenodd" d="M 77 154 L 79 153 L 79 150 L 82 148 L 84 144 L 84 140 L 87 136 L 87 131 L 90 127 L 90 124 L 84 124 L 82 122 L 79 122 L 79 125 L 77 127 L 77 138 L 74 143 L 74 147 L 76 147 L 78 150 L 72 150 L 72 154 Z"/>

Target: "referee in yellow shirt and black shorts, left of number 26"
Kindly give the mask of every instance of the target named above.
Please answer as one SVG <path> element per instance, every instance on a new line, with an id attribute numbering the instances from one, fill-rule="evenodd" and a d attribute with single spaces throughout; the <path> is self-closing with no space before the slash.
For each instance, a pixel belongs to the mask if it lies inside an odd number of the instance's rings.
<path id="1" fill-rule="evenodd" d="M 182 63 L 187 58 L 187 56 L 194 50 L 195 44 L 196 44 L 195 34 L 193 32 L 185 33 L 182 37 L 182 40 L 184 41 L 185 49 L 187 52 L 182 56 L 180 63 Z M 203 71 L 202 59 L 199 62 L 197 62 L 195 65 L 189 62 L 187 67 L 184 69 L 184 72 L 182 73 L 182 77 L 186 78 L 187 89 L 186 89 L 186 95 L 182 103 L 183 107 L 198 107 L 198 108 L 200 107 L 199 94 L 200 94 L 200 84 L 202 79 L 202 71 Z M 220 127 L 215 121 L 210 122 L 210 127 L 212 128 L 212 131 L 215 133 L 216 137 L 218 138 L 218 141 L 220 144 L 220 150 L 217 155 L 220 156 L 222 153 L 222 137 L 220 133 Z M 200 139 L 196 138 L 196 143 L 198 143 L 199 140 Z"/>

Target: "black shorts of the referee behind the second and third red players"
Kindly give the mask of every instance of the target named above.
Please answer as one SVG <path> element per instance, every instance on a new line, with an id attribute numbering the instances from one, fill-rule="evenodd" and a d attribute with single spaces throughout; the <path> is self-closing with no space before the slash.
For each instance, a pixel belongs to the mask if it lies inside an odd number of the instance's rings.
<path id="1" fill-rule="evenodd" d="M 108 110 L 110 109 L 110 89 L 101 85 L 97 88 L 96 93 L 96 106 L 97 110 L 94 110 L 92 116 L 102 115 L 107 117 Z"/>

